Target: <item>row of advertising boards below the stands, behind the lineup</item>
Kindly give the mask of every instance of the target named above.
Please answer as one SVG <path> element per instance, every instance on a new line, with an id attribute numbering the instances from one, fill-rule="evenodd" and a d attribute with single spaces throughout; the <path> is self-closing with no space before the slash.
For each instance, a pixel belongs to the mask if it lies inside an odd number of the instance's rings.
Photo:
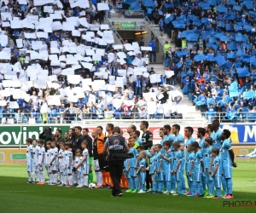
<path id="1" fill-rule="evenodd" d="M 111 123 L 111 121 L 109 121 Z M 140 123 L 140 122 L 138 122 Z M 107 123 L 106 123 L 107 124 Z M 113 121 L 114 124 L 114 121 Z M 39 138 L 39 135 L 41 132 L 44 131 L 46 127 L 50 127 L 53 134 L 55 134 L 55 130 L 61 129 L 62 130 L 62 137 L 64 136 L 65 131 L 69 130 L 72 126 L 76 126 L 77 124 L 73 125 L 65 125 L 65 124 L 59 124 L 59 125 L 22 125 L 21 127 L 19 125 L 16 126 L 1 126 L 1 133 L 0 133 L 0 148 L 1 147 L 26 147 L 26 138 Z M 127 133 L 127 127 L 129 124 L 120 124 L 119 127 L 121 130 L 123 130 L 123 135 L 126 140 L 129 138 L 129 134 Z M 85 124 L 85 126 L 82 126 L 83 128 L 86 127 L 89 129 L 89 135 L 91 135 L 92 131 L 96 130 L 96 126 L 98 124 Z M 171 125 L 172 126 L 172 125 Z M 186 141 L 186 136 L 184 134 L 185 127 L 187 125 L 181 125 L 180 134 L 184 136 Z M 103 134 L 105 134 L 105 125 L 103 124 Z M 158 144 L 161 141 L 159 131 L 160 128 L 162 128 L 163 125 L 160 124 L 154 124 L 150 125 L 148 130 L 152 132 L 153 134 L 153 141 L 154 144 Z M 193 137 L 195 140 L 199 141 L 197 138 L 197 129 L 201 127 L 200 125 L 191 125 L 191 127 L 194 129 Z M 206 126 L 205 126 L 206 127 Z M 256 124 L 225 124 L 220 125 L 220 130 L 230 130 L 231 136 L 230 141 L 232 141 L 233 144 L 241 144 L 241 143 L 255 143 L 256 141 Z M 137 130 L 140 130 L 139 124 L 137 124 Z M 141 135 L 143 132 L 141 131 Z M 105 135 L 108 135 L 105 134 Z M 207 135 L 206 135 L 207 136 Z"/>

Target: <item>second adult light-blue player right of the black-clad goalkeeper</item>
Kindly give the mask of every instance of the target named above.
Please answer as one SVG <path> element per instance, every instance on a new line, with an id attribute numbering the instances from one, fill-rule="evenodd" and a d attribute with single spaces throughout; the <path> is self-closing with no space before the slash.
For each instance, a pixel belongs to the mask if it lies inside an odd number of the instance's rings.
<path id="1" fill-rule="evenodd" d="M 172 125 L 172 134 L 174 135 L 174 141 L 179 142 L 180 144 L 180 151 L 183 154 L 183 161 L 181 163 L 181 172 L 182 172 L 182 176 L 181 176 L 181 183 L 182 183 L 182 191 L 183 194 L 187 194 L 187 190 L 186 190 L 186 185 L 185 185 L 185 178 L 184 178 L 184 171 L 185 171 L 185 155 L 184 155 L 184 137 L 183 135 L 179 134 L 180 131 L 180 125 L 178 124 L 173 124 Z"/>

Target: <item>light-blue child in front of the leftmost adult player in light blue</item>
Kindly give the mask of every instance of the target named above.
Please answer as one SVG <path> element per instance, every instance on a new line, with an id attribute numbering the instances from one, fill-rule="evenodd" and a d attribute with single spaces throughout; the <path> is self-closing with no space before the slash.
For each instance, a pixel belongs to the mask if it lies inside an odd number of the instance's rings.
<path id="1" fill-rule="evenodd" d="M 164 173 L 164 179 L 166 181 L 166 193 L 171 194 L 172 191 L 172 150 L 171 141 L 164 141 L 163 148 L 165 152 L 161 153 L 162 168 Z"/>

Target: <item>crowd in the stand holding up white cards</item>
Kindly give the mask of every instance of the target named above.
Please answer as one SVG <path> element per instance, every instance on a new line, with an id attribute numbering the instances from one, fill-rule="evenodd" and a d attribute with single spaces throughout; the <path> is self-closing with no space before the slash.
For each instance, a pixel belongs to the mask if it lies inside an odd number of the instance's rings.
<path id="1" fill-rule="evenodd" d="M 2 124 L 181 118 L 183 95 L 148 67 L 154 38 L 114 44 L 110 11 L 95 0 L 2 2 Z"/>

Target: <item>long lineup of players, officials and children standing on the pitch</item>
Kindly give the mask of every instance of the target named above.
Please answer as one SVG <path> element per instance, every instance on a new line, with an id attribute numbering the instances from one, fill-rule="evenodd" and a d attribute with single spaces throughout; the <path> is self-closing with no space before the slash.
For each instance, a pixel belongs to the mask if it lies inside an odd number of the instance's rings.
<path id="1" fill-rule="evenodd" d="M 76 128 L 80 131 L 76 130 L 78 134 L 74 139 L 79 138 L 82 130 L 80 127 Z M 108 136 L 112 135 L 112 130 L 113 124 L 107 124 Z M 122 187 L 129 187 L 125 192 L 186 194 L 213 199 L 221 197 L 233 199 L 232 166 L 236 167 L 236 163 L 229 141 L 230 131 L 219 130 L 218 120 L 208 124 L 206 129 L 198 129 L 197 137 L 200 139 L 198 142 L 192 137 L 194 130 L 191 127 L 185 128 L 187 137 L 185 142 L 183 135 L 179 134 L 178 124 L 172 127 L 169 124 L 164 125 L 160 129 L 162 141 L 154 146 L 147 121 L 141 123 L 140 130 L 143 131 L 141 138 L 136 126 L 130 125 L 127 128 L 130 135 L 129 152 L 133 153 L 134 157 L 126 159 L 124 163 L 120 184 Z M 70 135 L 72 137 L 72 133 Z M 44 184 L 45 167 L 50 185 L 57 184 L 59 177 L 60 186 L 72 187 L 74 183 L 77 187 L 88 187 L 92 181 L 90 175 L 92 175 L 93 163 L 96 171 L 96 187 L 111 187 L 106 153 L 102 152 L 107 137 L 102 135 L 102 126 L 98 126 L 91 135 L 92 146 L 88 142 L 89 135 L 85 135 L 87 140 L 81 141 L 80 144 L 74 144 L 73 141 L 79 140 L 72 138 L 68 138 L 66 142 L 47 141 L 47 152 L 43 140 L 27 139 L 28 183 L 32 182 L 32 175 L 37 176 L 38 184 Z M 57 147 L 60 147 L 59 150 Z M 76 149 L 74 150 L 73 147 Z M 90 152 L 90 149 L 93 152 Z M 94 160 L 91 158 L 92 155 Z M 188 191 L 184 176 L 187 177 Z M 221 196 L 221 185 L 223 196 Z"/>

